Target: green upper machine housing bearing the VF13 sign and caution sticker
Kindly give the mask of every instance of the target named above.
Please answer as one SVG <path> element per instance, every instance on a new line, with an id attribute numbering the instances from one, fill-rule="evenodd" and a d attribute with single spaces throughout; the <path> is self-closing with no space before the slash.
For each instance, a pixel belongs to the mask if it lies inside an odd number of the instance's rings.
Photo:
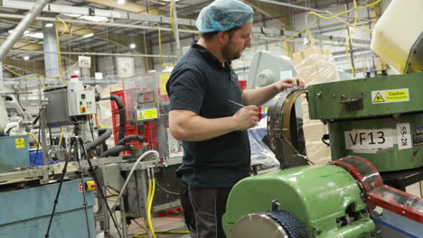
<path id="1" fill-rule="evenodd" d="M 423 167 L 423 73 L 309 87 L 311 119 L 328 124 L 332 160 L 358 155 L 379 171 Z"/>

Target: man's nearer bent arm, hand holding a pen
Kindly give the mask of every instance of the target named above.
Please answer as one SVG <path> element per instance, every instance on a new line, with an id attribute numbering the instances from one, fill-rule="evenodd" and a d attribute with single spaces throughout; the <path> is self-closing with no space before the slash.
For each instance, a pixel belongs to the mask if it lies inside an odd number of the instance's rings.
<path id="1" fill-rule="evenodd" d="M 169 112 L 169 128 L 176 140 L 200 142 L 226 133 L 247 130 L 258 122 L 258 107 L 242 107 L 236 114 L 221 118 L 204 118 L 188 110 Z"/>

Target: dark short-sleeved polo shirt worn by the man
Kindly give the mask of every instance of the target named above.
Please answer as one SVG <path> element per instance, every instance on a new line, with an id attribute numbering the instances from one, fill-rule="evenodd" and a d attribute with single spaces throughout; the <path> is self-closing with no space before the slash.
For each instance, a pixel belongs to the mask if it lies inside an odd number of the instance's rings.
<path id="1" fill-rule="evenodd" d="M 235 114 L 242 104 L 238 77 L 230 62 L 221 62 L 209 50 L 193 42 L 178 61 L 166 85 L 171 110 L 189 110 L 205 118 Z M 183 141 L 183 164 L 176 170 L 188 185 L 199 188 L 231 188 L 249 176 L 249 136 L 236 131 L 202 142 Z"/>

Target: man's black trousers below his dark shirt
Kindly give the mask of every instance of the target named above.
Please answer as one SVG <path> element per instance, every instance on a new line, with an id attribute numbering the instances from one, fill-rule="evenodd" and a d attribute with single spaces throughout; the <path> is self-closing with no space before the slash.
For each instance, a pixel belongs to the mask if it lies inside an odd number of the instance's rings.
<path id="1" fill-rule="evenodd" d="M 193 188 L 181 185 L 185 224 L 193 238 L 226 238 L 221 216 L 226 212 L 230 188 Z"/>

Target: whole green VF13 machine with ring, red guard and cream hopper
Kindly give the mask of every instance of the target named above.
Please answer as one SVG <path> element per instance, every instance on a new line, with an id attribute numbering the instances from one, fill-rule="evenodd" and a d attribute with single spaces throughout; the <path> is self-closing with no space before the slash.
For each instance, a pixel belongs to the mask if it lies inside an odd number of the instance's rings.
<path id="1" fill-rule="evenodd" d="M 423 180 L 423 28 L 415 24 L 422 11 L 421 1 L 393 0 L 373 31 L 372 49 L 409 74 L 312 85 L 277 102 L 268 135 L 282 170 L 244 178 L 230 191 L 222 218 L 230 238 L 421 237 L 423 199 L 405 188 Z M 290 130 L 299 94 L 310 119 L 328 125 L 328 165 L 293 163 L 307 160 Z"/>

